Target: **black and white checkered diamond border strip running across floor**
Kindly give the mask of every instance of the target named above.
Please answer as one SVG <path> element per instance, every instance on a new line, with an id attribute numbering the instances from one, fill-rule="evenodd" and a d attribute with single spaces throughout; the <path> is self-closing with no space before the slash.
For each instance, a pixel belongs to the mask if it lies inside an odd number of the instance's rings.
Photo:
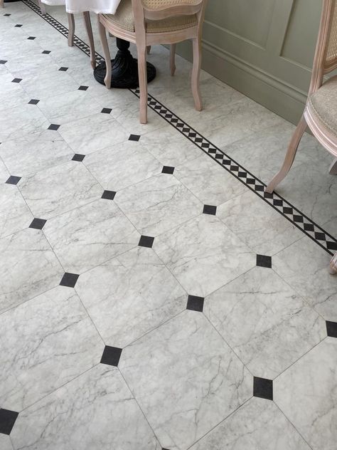
<path id="1" fill-rule="evenodd" d="M 62 23 L 55 20 L 49 14 L 41 14 L 40 8 L 33 3 L 32 0 L 22 0 L 24 4 L 33 9 L 36 14 L 42 17 L 45 21 L 50 23 L 56 30 L 68 38 L 68 28 L 62 25 Z M 74 45 L 80 48 L 87 56 L 90 56 L 90 48 L 82 41 L 82 39 L 75 36 Z M 97 58 L 97 63 L 104 61 L 99 53 L 95 53 Z M 130 89 L 134 95 L 139 97 L 139 89 Z M 308 216 L 303 214 L 295 206 L 287 202 L 286 199 L 281 197 L 279 194 L 274 192 L 273 194 L 268 194 L 265 192 L 266 185 L 255 175 L 248 172 L 245 167 L 242 167 L 234 159 L 228 156 L 225 152 L 220 150 L 218 147 L 212 144 L 208 139 L 200 135 L 196 130 L 190 127 L 186 122 L 184 122 L 180 117 L 174 114 L 171 110 L 162 105 L 158 100 L 156 100 L 151 95 L 148 96 L 149 108 L 154 110 L 157 114 L 169 122 L 170 125 L 176 128 L 182 135 L 184 135 L 188 140 L 193 142 L 200 150 L 205 152 L 213 161 L 220 164 L 227 172 L 229 172 L 233 177 L 238 179 L 240 182 L 245 184 L 245 186 L 252 192 L 255 192 L 260 199 L 264 200 L 269 206 L 282 214 L 287 220 L 291 222 L 298 229 L 303 231 L 306 236 L 309 236 L 313 241 L 316 242 L 321 248 L 333 255 L 337 251 L 337 239 L 335 239 L 327 231 L 323 230 L 321 226 L 317 225 L 314 221 L 309 219 Z"/>

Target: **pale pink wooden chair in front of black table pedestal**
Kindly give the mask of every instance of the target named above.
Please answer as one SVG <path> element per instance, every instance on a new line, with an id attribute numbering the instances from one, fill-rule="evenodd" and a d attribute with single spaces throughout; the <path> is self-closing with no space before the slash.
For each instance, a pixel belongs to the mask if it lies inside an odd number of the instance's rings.
<path id="1" fill-rule="evenodd" d="M 206 0 L 122 0 L 116 14 L 99 15 L 100 38 L 107 64 L 105 85 L 108 89 L 111 87 L 112 70 L 106 30 L 137 45 L 141 123 L 147 122 L 146 49 L 154 44 L 171 44 L 173 75 L 176 69 L 176 43 L 192 39 L 192 92 L 196 110 L 202 109 L 199 76 L 205 5 Z"/>

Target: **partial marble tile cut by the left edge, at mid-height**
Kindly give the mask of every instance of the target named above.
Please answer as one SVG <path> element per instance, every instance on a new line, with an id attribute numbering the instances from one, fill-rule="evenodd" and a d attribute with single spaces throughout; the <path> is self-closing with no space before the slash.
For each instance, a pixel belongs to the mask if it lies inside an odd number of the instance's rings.
<path id="1" fill-rule="evenodd" d="M 28 228 L 33 220 L 17 187 L 0 184 L 0 238 Z"/>

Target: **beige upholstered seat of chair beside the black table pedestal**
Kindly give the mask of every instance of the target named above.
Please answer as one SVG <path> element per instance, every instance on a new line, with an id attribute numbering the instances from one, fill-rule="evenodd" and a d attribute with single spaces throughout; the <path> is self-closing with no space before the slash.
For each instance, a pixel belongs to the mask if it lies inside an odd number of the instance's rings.
<path id="1" fill-rule="evenodd" d="M 134 13 L 132 0 L 122 0 L 116 14 L 104 14 L 105 18 L 114 26 L 134 33 Z M 166 31 L 179 31 L 191 28 L 198 24 L 197 16 L 175 16 L 159 21 L 146 21 L 146 33 L 165 33 Z"/>

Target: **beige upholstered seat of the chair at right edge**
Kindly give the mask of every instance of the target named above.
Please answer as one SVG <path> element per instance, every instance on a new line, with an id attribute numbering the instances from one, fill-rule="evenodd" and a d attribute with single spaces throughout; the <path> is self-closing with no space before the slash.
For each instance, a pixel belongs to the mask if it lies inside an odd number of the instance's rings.
<path id="1" fill-rule="evenodd" d="M 337 137 L 337 75 L 310 96 L 308 108 Z"/>

